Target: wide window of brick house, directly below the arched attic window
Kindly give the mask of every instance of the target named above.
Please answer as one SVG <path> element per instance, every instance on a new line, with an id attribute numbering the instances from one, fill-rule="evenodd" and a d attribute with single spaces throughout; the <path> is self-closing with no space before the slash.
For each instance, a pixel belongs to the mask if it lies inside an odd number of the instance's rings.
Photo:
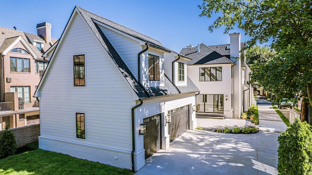
<path id="1" fill-rule="evenodd" d="M 10 71 L 30 72 L 30 60 L 27 58 L 10 57 Z"/>

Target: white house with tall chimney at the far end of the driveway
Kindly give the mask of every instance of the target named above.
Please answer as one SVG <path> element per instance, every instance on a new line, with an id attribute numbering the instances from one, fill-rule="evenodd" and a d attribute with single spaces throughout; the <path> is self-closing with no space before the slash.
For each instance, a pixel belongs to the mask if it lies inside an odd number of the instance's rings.
<path id="1" fill-rule="evenodd" d="M 196 95 L 196 116 L 239 118 L 243 111 L 255 104 L 253 88 L 248 85 L 249 66 L 241 61 L 240 34 L 230 34 L 230 44 L 192 45 L 181 50 L 188 61 L 188 75 L 199 88 Z"/>

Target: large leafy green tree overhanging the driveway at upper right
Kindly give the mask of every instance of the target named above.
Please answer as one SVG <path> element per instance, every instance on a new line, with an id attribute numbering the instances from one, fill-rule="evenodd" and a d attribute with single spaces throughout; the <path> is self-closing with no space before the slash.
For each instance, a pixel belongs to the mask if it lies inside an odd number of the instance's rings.
<path id="1" fill-rule="evenodd" d="M 290 91 L 306 92 L 312 104 L 312 1 L 311 0 L 203 0 L 201 17 L 218 13 L 209 31 L 235 25 L 250 39 L 247 47 L 267 43 L 276 56 L 264 64 L 263 83 Z M 269 85 L 273 83 L 272 85 Z"/>

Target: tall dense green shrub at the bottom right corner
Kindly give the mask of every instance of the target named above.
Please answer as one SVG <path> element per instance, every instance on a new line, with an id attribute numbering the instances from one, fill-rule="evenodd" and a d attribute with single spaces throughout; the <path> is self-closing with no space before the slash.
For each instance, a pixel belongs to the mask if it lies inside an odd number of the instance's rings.
<path id="1" fill-rule="evenodd" d="M 312 131 L 311 126 L 299 119 L 278 137 L 278 164 L 280 175 L 312 174 Z"/>

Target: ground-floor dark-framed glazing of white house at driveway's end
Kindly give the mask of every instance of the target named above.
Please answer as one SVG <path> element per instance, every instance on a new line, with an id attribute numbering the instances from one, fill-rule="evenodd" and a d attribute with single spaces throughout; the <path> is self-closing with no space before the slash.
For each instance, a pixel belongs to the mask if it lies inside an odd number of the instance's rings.
<path id="1" fill-rule="evenodd" d="M 223 94 L 199 94 L 196 96 L 196 112 L 223 113 Z"/>

